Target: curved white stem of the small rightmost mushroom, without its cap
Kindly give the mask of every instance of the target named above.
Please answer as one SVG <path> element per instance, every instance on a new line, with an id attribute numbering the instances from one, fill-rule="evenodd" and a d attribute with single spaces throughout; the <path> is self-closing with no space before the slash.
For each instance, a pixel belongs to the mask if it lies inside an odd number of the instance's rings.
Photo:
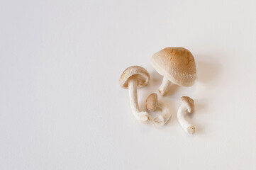
<path id="1" fill-rule="evenodd" d="M 182 126 L 183 130 L 189 134 L 193 134 L 195 132 L 194 125 L 191 125 L 187 120 L 185 120 L 184 112 L 188 111 L 189 108 L 182 103 L 181 106 L 179 106 L 179 110 L 177 113 L 177 118 L 179 121 L 179 124 Z"/>

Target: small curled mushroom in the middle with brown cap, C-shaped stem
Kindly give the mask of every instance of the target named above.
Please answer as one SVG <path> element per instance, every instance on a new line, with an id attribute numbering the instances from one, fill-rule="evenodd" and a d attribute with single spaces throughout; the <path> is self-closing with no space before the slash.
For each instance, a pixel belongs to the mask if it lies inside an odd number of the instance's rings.
<path id="1" fill-rule="evenodd" d="M 152 121 L 155 125 L 165 125 L 171 117 L 169 106 L 166 106 L 162 101 L 157 100 L 157 94 L 150 94 L 146 100 L 146 108 L 149 111 L 155 111 L 157 108 L 162 110 L 162 114 L 158 115 Z"/>

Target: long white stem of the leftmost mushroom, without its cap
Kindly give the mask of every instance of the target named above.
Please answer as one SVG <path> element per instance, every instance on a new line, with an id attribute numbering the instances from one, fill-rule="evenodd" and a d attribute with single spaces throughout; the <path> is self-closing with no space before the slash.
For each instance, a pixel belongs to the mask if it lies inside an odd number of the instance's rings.
<path id="1" fill-rule="evenodd" d="M 137 81 L 131 79 L 129 81 L 129 96 L 130 96 L 130 108 L 133 111 L 133 115 L 141 123 L 148 123 L 150 121 L 150 115 L 148 112 L 140 111 L 138 106 L 138 96 L 137 96 Z"/>

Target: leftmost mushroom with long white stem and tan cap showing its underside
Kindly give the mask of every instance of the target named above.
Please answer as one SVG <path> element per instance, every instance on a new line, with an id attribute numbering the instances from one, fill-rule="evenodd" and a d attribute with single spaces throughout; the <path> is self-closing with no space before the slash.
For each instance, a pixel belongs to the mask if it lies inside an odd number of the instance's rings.
<path id="1" fill-rule="evenodd" d="M 148 123 L 150 115 L 146 111 L 140 111 L 138 106 L 137 88 L 140 89 L 148 85 L 150 74 L 148 71 L 140 66 L 128 67 L 119 79 L 119 84 L 123 89 L 129 89 L 130 108 L 133 111 L 135 118 L 140 123 Z"/>

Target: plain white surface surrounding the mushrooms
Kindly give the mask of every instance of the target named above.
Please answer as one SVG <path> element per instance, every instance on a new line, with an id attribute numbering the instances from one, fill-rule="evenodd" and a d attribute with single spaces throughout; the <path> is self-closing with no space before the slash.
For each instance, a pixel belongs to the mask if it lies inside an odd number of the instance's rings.
<path id="1" fill-rule="evenodd" d="M 1 1 L 0 169 L 256 169 L 255 1 Z M 138 123 L 118 79 L 187 47 L 198 79 L 173 86 L 165 127 Z M 181 96 L 189 121 L 177 122 Z"/>

